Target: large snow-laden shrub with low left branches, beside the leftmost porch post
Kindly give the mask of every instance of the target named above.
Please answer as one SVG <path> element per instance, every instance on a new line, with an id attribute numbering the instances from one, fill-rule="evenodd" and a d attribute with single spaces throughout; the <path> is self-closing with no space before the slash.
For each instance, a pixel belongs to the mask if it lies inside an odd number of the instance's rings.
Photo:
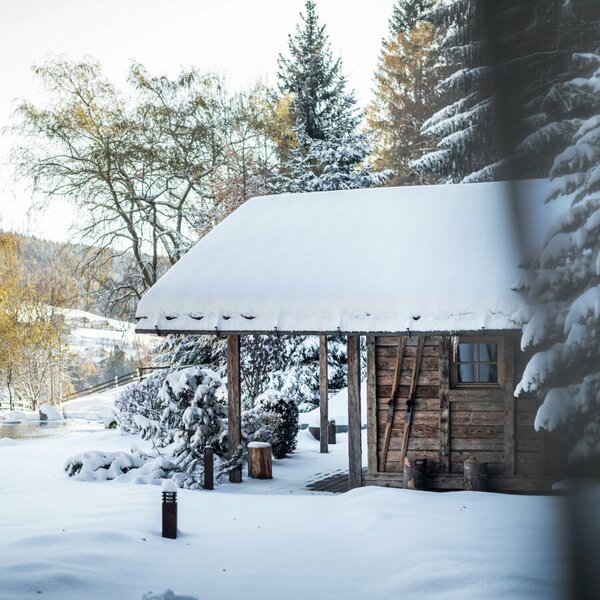
<path id="1" fill-rule="evenodd" d="M 144 454 L 84 453 L 67 461 L 69 476 L 85 479 L 112 479 L 134 471 L 132 479 L 140 483 L 158 483 L 163 478 L 173 479 L 179 487 L 197 489 L 203 483 L 204 448 L 211 446 L 215 455 L 217 481 L 227 471 L 242 463 L 243 448 L 235 450 L 233 458 L 227 454 L 227 430 L 223 418 L 226 408 L 216 391 L 221 386 L 219 376 L 209 369 L 192 367 L 169 375 L 162 374 L 162 385 L 156 391 L 155 381 L 147 387 L 138 386 L 133 394 L 121 398 L 121 411 L 131 429 L 138 428 L 142 437 L 150 439 L 154 452 Z M 150 390 L 155 399 L 150 402 L 144 390 Z M 137 394 L 137 395 L 136 395 Z M 146 415 L 129 412 L 141 406 Z"/>

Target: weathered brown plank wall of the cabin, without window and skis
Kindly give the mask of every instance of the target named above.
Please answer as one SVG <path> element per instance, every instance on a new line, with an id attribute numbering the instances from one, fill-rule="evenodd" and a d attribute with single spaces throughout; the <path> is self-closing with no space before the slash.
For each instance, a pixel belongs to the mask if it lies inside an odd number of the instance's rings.
<path id="1" fill-rule="evenodd" d="M 497 388 L 453 389 L 448 336 L 426 336 L 419 371 L 409 459 L 426 458 L 432 489 L 462 489 L 464 461 L 488 463 L 490 489 L 545 492 L 553 465 L 544 454 L 543 436 L 533 427 L 538 401 L 514 398 L 513 390 L 525 364 L 518 336 L 503 336 L 503 383 Z M 366 483 L 402 486 L 401 447 L 406 398 L 416 354 L 417 337 L 408 340 L 387 460 L 382 464 L 388 403 L 396 365 L 398 337 L 368 340 L 369 470 Z M 375 438 L 375 439 L 374 439 Z"/>

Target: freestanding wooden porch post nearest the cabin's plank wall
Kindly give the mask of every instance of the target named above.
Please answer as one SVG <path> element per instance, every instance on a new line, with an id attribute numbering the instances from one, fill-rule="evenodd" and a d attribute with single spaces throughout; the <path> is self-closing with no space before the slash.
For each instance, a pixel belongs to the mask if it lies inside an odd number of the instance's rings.
<path id="1" fill-rule="evenodd" d="M 348 463 L 349 488 L 362 486 L 360 423 L 360 336 L 348 336 Z"/>

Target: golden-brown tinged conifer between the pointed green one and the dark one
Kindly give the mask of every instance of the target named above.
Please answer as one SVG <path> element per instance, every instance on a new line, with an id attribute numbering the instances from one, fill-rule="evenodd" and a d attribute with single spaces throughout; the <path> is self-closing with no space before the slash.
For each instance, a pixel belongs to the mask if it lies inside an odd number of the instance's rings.
<path id="1" fill-rule="evenodd" d="M 434 0 L 398 0 L 382 42 L 367 123 L 374 137 L 374 165 L 394 173 L 393 185 L 428 180 L 412 162 L 430 143 L 421 133 L 423 123 L 441 107 L 436 90 L 444 73 L 441 29 L 423 19 L 434 4 Z"/>

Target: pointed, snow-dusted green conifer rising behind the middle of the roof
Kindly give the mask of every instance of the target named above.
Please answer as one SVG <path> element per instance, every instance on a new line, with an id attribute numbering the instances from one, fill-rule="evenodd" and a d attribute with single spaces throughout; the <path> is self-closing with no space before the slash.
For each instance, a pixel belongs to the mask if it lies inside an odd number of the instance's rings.
<path id="1" fill-rule="evenodd" d="M 360 114 L 347 90 L 341 60 L 334 59 L 316 4 L 307 0 L 301 22 L 288 38 L 289 56 L 279 57 L 279 91 L 289 102 L 295 147 L 282 164 L 278 191 L 306 192 L 370 187 L 386 176 L 374 173 Z"/>

